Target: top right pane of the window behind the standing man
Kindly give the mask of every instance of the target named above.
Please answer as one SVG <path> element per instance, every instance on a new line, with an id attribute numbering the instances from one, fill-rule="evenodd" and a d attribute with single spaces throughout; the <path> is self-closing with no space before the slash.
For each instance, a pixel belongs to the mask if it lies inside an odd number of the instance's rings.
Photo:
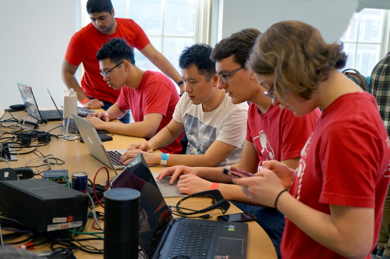
<path id="1" fill-rule="evenodd" d="M 195 35 L 195 0 L 166 0 L 164 10 L 164 34 Z"/>

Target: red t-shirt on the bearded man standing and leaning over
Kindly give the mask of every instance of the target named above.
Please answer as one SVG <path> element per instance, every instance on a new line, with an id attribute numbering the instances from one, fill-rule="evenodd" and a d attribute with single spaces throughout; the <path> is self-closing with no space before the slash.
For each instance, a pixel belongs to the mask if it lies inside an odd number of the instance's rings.
<path id="1" fill-rule="evenodd" d="M 108 87 L 99 73 L 99 61 L 96 59 L 97 51 L 104 43 L 115 37 L 125 39 L 130 46 L 136 49 L 143 49 L 150 42 L 145 32 L 135 21 L 124 18 L 115 18 L 115 20 L 118 27 L 112 35 L 99 32 L 92 23 L 74 33 L 65 54 L 65 59 L 70 64 L 78 66 L 83 63 L 85 73 L 81 80 L 81 88 L 84 93 L 110 103 L 115 103 L 119 91 Z"/>

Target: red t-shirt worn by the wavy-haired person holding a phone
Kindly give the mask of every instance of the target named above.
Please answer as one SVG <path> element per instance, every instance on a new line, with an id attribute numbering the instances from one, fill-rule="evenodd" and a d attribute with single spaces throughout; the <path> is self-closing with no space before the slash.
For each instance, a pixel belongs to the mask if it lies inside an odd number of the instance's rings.
<path id="1" fill-rule="evenodd" d="M 323 111 L 307 140 L 290 193 L 326 214 L 329 204 L 375 208 L 374 249 L 389 185 L 389 146 L 375 98 L 366 92 L 340 96 Z M 280 250 L 282 258 L 344 258 L 289 219 Z"/>

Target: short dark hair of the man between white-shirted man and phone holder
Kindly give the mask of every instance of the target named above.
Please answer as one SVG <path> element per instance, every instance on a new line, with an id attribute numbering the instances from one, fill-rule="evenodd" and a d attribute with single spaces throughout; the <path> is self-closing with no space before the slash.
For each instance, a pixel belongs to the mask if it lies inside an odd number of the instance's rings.
<path id="1" fill-rule="evenodd" d="M 261 32 L 254 28 L 233 33 L 215 45 L 211 53 L 211 59 L 218 62 L 233 55 L 234 62 L 245 67 L 245 62 L 249 58 L 252 47 L 259 35 L 261 35 Z"/>

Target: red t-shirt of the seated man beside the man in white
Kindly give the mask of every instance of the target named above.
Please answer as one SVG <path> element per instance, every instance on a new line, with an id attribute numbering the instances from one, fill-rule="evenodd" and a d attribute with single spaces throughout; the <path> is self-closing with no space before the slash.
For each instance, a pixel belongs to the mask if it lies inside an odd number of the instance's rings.
<path id="1" fill-rule="evenodd" d="M 157 132 L 171 121 L 177 101 L 179 101 L 179 94 L 172 80 L 160 72 L 150 70 L 145 71 L 137 89 L 122 86 L 120 92 L 117 105 L 122 110 L 131 110 L 135 122 L 143 121 L 144 116 L 149 113 L 163 115 Z M 161 148 L 160 151 L 181 154 L 180 140 L 182 135 L 172 144 Z"/>

